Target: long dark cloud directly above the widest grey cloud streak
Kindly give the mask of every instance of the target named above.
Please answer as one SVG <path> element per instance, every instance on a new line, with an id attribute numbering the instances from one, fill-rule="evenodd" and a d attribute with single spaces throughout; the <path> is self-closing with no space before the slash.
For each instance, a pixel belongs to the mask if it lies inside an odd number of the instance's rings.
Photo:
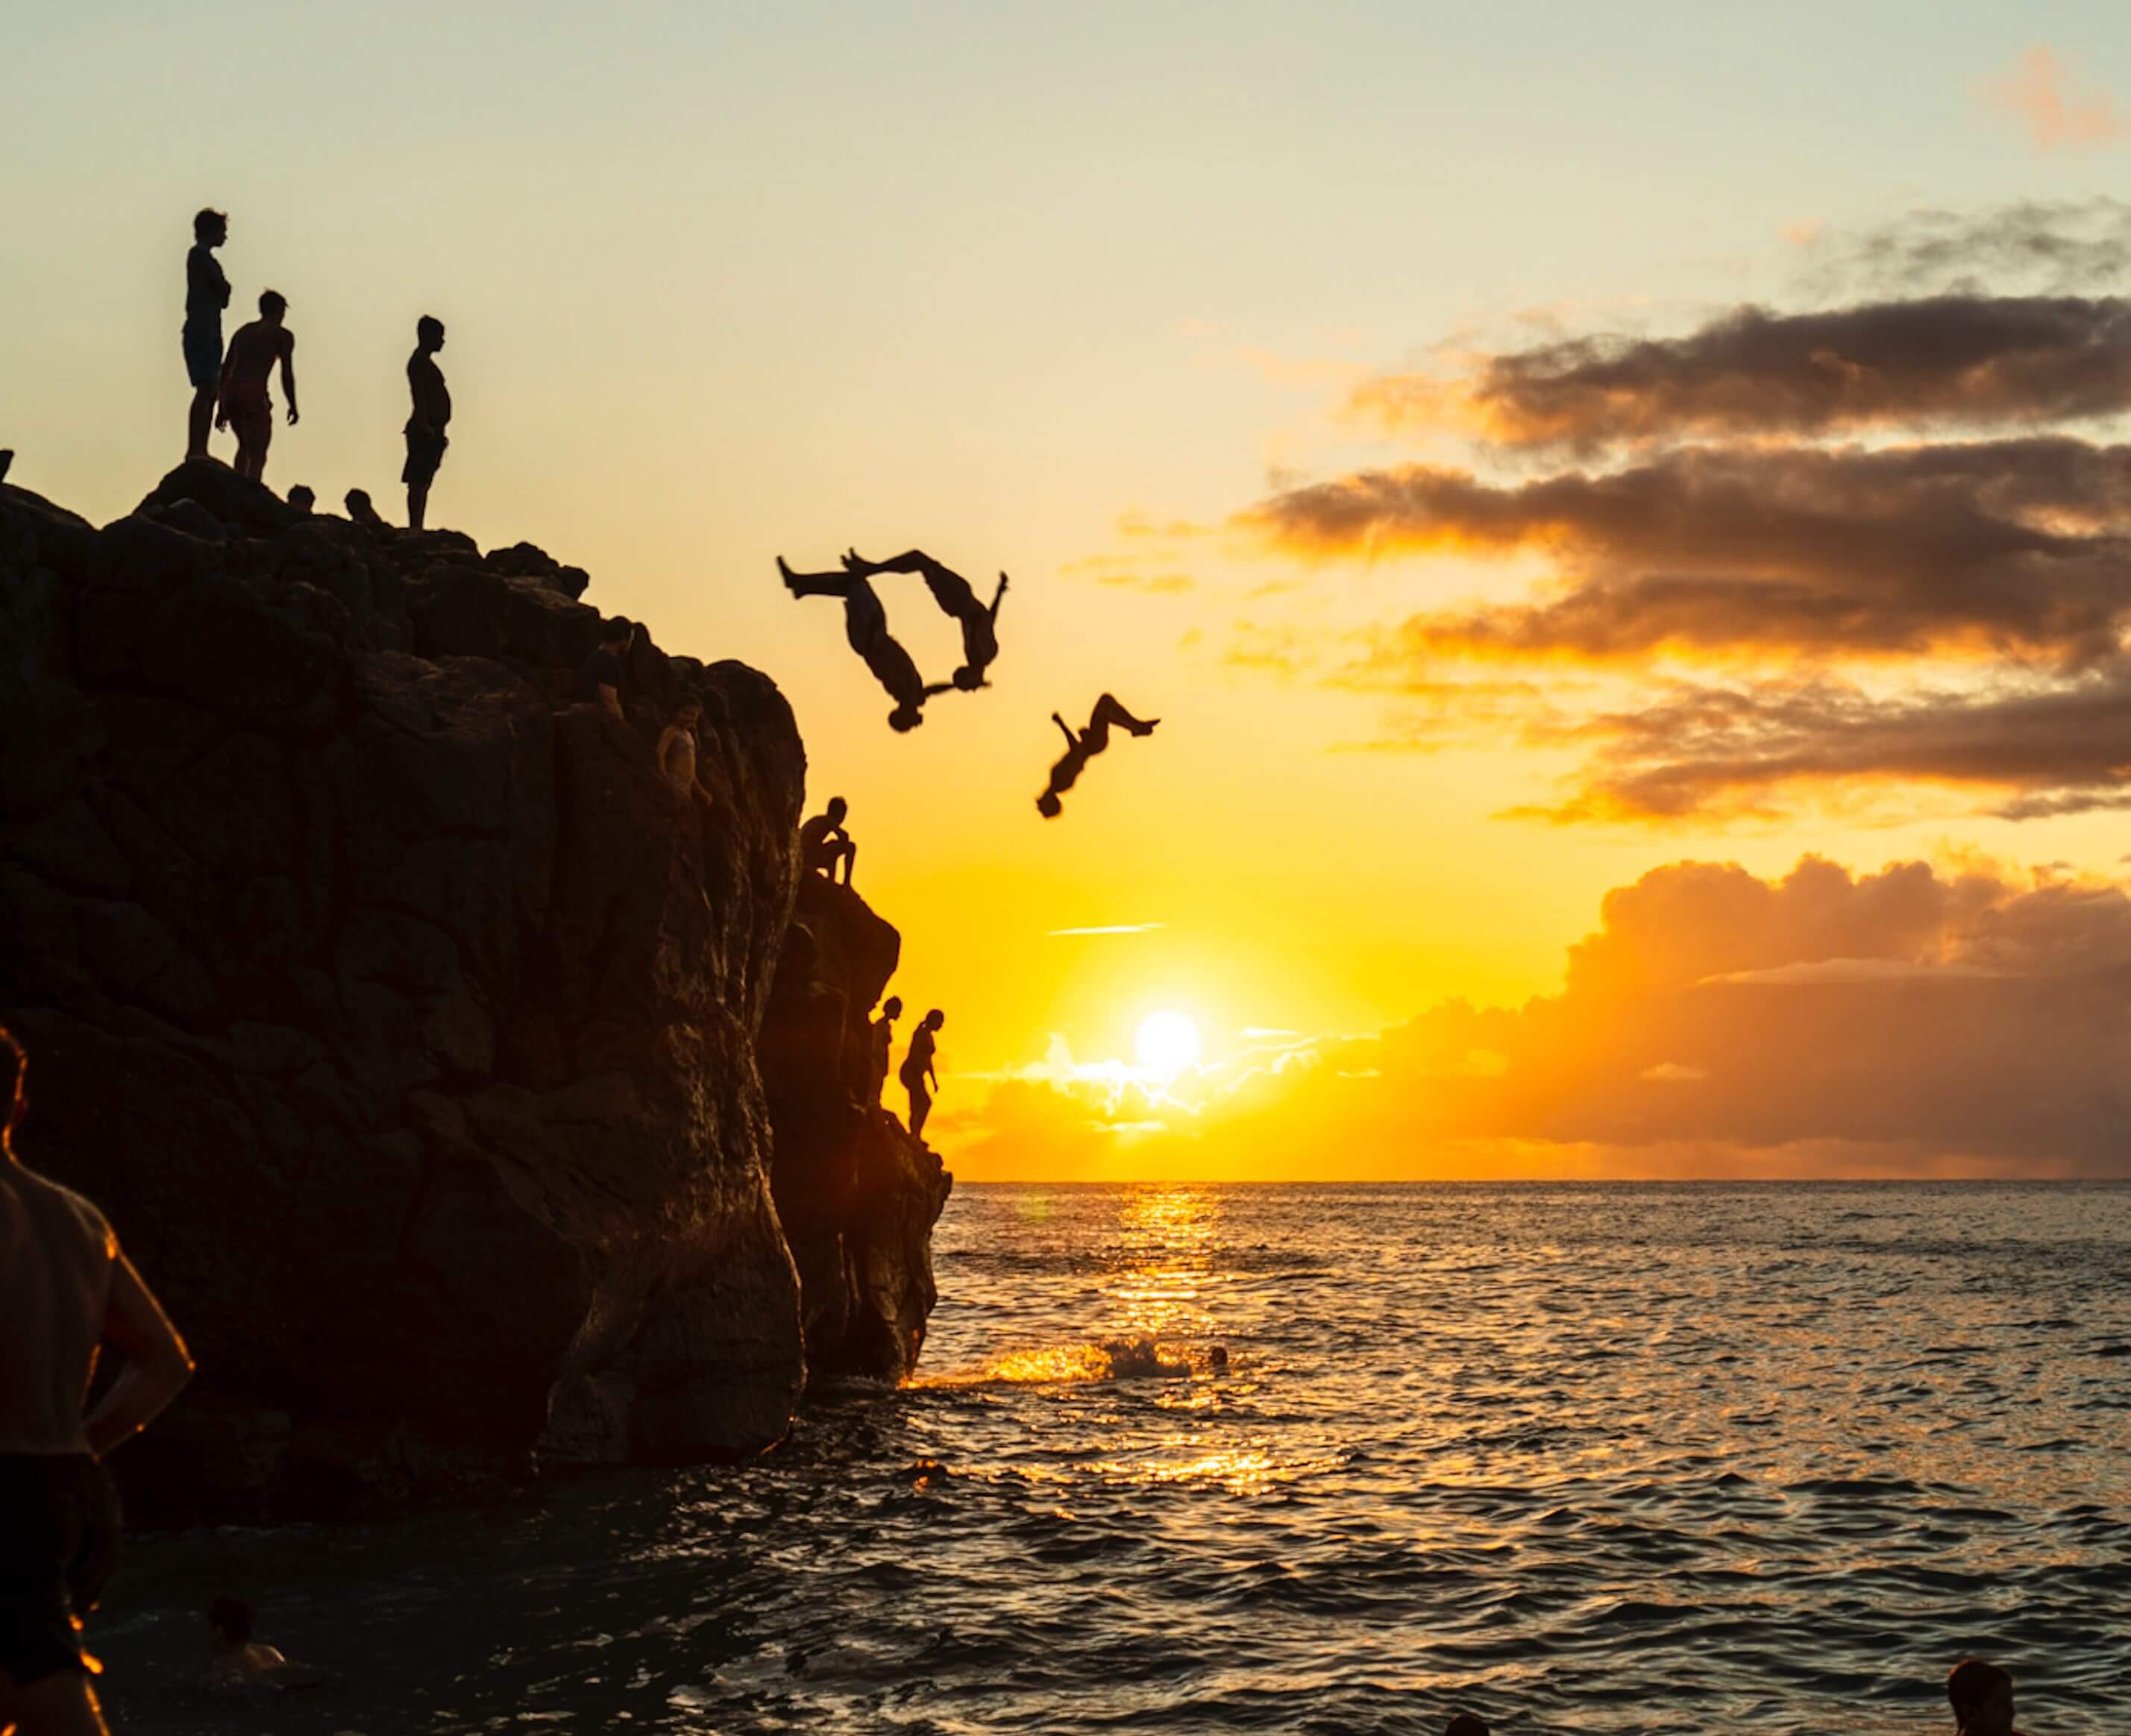
<path id="1" fill-rule="evenodd" d="M 2044 426 L 2131 407 L 2131 302 L 1926 296 L 1826 313 L 1743 307 L 1683 339 L 1583 337 L 1468 381 L 1383 375 L 1353 407 L 1504 447 Z"/>

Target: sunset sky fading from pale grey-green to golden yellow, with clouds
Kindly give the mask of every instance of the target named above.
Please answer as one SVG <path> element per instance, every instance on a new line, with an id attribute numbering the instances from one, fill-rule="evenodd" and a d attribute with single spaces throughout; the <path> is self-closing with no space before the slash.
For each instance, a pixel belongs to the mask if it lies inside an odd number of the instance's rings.
<path id="1" fill-rule="evenodd" d="M 281 488 L 392 498 L 443 317 L 430 520 L 784 686 L 959 1174 L 2125 1169 L 2112 9 L 28 0 L 6 45 L 11 479 L 104 520 L 173 462 L 202 204 L 237 307 L 290 298 Z M 776 582 L 848 545 L 1008 573 L 995 686 L 891 733 Z M 1161 728 L 1046 822 L 1104 690 Z"/>

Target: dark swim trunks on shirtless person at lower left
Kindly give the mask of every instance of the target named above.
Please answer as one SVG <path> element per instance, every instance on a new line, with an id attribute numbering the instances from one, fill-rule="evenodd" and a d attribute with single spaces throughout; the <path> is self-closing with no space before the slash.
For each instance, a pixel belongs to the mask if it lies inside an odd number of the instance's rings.
<path id="1" fill-rule="evenodd" d="M 0 1670 L 30 1687 L 94 1672 L 75 1617 L 117 1566 L 119 1504 L 87 1453 L 0 1453 Z"/>

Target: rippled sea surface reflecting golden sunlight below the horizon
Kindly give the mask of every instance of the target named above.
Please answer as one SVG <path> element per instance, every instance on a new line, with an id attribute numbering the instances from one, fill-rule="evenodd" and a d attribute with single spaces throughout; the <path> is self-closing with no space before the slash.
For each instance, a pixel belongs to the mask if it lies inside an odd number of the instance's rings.
<path id="1" fill-rule="evenodd" d="M 739 1470 L 139 1544 L 132 1730 L 2131 1730 L 2131 1189 L 967 1186 Z M 1215 1346 L 1227 1353 L 1225 1367 Z M 345 1672 L 198 1687 L 198 1610 Z"/>

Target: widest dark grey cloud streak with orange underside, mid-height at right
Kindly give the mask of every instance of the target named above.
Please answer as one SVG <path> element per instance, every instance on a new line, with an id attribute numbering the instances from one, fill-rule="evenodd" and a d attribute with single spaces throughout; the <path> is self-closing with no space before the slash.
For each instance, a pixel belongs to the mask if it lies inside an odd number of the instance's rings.
<path id="1" fill-rule="evenodd" d="M 2114 652 L 2131 607 L 2131 447 L 2020 439 L 1686 449 L 1490 484 L 1409 464 L 1240 520 L 1306 554 L 1545 552 L 1545 601 L 1409 620 L 1409 654 L 1639 658 L 1664 648 Z"/>

